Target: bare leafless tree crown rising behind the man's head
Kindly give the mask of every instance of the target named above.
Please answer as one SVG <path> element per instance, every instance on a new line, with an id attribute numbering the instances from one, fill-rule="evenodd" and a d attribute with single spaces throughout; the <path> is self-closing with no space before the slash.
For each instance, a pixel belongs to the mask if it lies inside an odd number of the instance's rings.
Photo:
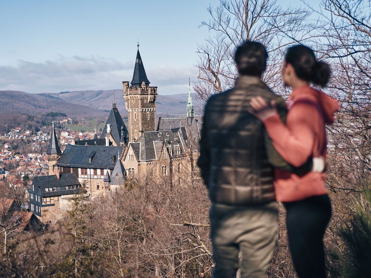
<path id="1" fill-rule="evenodd" d="M 309 43 L 318 36 L 319 25 L 309 20 L 308 9 L 283 8 L 275 0 L 220 0 L 219 6 L 210 6 L 208 11 L 211 19 L 201 26 L 209 29 L 210 37 L 198 45 L 198 82 L 194 85 L 203 102 L 234 85 L 237 69 L 233 56 L 245 40 L 266 46 L 269 59 L 263 80 L 282 93 L 282 53 L 292 43 Z"/>

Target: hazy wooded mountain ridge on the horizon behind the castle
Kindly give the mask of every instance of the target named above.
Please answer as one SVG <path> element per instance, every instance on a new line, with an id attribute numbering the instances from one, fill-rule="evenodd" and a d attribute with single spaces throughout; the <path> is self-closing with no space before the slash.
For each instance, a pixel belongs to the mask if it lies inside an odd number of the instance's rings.
<path id="1" fill-rule="evenodd" d="M 199 102 L 193 94 L 195 114 L 199 111 Z M 0 91 L 0 113 L 39 113 L 60 112 L 70 118 L 106 119 L 111 111 L 112 102 L 123 118 L 127 116 L 122 90 L 86 90 L 61 93 L 30 94 L 21 91 Z M 187 115 L 188 94 L 158 95 L 157 117 L 179 117 Z"/>

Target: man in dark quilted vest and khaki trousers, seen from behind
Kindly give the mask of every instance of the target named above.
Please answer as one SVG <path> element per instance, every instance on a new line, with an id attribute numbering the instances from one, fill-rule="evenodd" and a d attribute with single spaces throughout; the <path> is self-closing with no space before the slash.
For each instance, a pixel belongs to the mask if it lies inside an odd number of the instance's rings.
<path id="1" fill-rule="evenodd" d="M 238 268 L 241 278 L 266 277 L 276 245 L 277 205 L 270 163 L 285 162 L 279 162 L 262 123 L 249 113 L 254 96 L 268 103 L 275 100 L 282 117 L 287 112 L 284 100 L 261 80 L 267 56 L 258 42 L 239 46 L 234 59 L 240 76 L 235 87 L 210 97 L 205 107 L 197 164 L 211 199 L 214 278 L 235 278 Z"/>

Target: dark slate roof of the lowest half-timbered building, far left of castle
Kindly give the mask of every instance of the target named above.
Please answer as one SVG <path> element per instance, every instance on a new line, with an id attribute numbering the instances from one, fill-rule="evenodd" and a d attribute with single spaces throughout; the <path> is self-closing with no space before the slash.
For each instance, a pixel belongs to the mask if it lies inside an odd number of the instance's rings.
<path id="1" fill-rule="evenodd" d="M 57 179 L 56 175 L 38 176 L 33 178 L 32 185 L 35 185 L 35 191 L 33 191 L 32 187 L 29 192 L 41 195 L 42 197 L 76 194 L 79 192 L 78 187 L 81 186 L 74 173 L 60 175 L 60 179 Z M 69 185 L 76 185 L 76 188 L 66 190 L 66 186 Z M 55 187 L 56 190 L 45 191 L 45 188 L 49 187 Z"/>

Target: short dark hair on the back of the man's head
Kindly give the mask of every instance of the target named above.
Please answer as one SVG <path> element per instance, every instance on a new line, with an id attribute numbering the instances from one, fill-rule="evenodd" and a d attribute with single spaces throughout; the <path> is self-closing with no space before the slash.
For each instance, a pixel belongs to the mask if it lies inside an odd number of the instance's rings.
<path id="1" fill-rule="evenodd" d="M 263 44 L 246 41 L 236 49 L 234 61 L 240 75 L 261 76 L 267 65 L 268 53 Z"/>

